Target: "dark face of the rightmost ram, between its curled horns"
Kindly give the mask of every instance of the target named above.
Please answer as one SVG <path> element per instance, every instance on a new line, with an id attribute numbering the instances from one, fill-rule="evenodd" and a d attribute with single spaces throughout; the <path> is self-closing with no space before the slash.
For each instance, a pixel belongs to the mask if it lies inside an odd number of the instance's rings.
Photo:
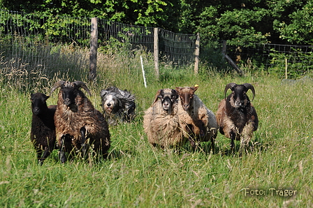
<path id="1" fill-rule="evenodd" d="M 250 103 L 249 97 L 247 96 L 247 90 L 247 87 L 243 84 L 235 84 L 231 87 L 231 95 L 228 100 L 231 101 L 233 107 L 247 107 Z"/>

